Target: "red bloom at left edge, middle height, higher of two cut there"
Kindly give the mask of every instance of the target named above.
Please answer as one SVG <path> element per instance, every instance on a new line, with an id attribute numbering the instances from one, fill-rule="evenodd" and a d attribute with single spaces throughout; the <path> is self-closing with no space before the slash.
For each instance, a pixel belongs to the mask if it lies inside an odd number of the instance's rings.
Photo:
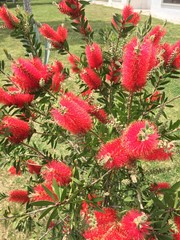
<path id="1" fill-rule="evenodd" d="M 22 108 L 25 104 L 30 104 L 33 100 L 34 95 L 21 93 L 16 87 L 9 87 L 8 92 L 0 88 L 0 103 L 7 106 L 16 105 Z"/>

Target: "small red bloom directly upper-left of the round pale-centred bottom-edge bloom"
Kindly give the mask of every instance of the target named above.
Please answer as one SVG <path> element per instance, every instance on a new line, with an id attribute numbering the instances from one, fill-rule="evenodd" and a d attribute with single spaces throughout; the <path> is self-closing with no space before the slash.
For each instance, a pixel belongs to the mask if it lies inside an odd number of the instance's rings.
<path id="1" fill-rule="evenodd" d="M 103 212 L 94 211 L 97 226 L 102 224 L 113 223 L 118 220 L 117 212 L 113 208 L 103 208 Z"/>

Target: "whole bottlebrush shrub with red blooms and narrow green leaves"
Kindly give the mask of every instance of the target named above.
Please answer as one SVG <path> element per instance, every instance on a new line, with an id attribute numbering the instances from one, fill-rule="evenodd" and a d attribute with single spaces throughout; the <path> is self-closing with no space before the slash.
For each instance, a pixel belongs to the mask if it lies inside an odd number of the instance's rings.
<path id="1" fill-rule="evenodd" d="M 165 90 L 179 74 L 180 42 L 163 42 L 165 28 L 152 28 L 150 17 L 139 26 L 140 15 L 127 5 L 108 35 L 101 31 L 99 45 L 86 4 L 57 5 L 85 40 L 80 56 L 71 52 L 66 26 L 38 29 L 19 8 L 16 16 L 0 8 L 26 52 L 18 59 L 7 54 L 8 74 L 0 62 L 7 80 L 0 88 L 1 158 L 11 175 L 30 175 L 26 188 L 1 193 L 1 200 L 26 205 L 23 214 L 9 207 L 5 220 L 20 231 L 46 222 L 43 236 L 52 231 L 52 239 L 177 240 L 180 182 L 152 182 L 142 162 L 168 161 L 176 151 L 179 121 L 169 120 L 165 108 L 179 96 L 169 99 Z M 50 49 L 43 63 L 38 31 L 70 68 L 48 63 Z"/>

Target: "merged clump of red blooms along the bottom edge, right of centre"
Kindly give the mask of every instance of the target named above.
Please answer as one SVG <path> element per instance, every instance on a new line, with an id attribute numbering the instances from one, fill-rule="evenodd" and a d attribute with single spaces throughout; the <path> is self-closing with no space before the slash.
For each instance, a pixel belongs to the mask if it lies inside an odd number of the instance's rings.
<path id="1" fill-rule="evenodd" d="M 137 210 L 130 210 L 119 221 L 116 211 L 107 208 L 104 213 L 96 212 L 96 219 L 97 226 L 87 229 L 83 234 L 87 240 L 143 240 L 151 229 L 148 217 Z"/>

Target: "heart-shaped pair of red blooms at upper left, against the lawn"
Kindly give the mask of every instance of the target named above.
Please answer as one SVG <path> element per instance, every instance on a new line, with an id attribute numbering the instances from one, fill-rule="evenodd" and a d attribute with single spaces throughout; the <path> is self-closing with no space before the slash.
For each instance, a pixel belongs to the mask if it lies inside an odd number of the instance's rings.
<path id="1" fill-rule="evenodd" d="M 40 33 L 47 39 L 49 39 L 55 48 L 62 48 L 63 43 L 66 41 L 68 32 L 67 29 L 59 26 L 57 28 L 57 31 L 55 31 L 52 27 L 50 27 L 48 24 L 43 24 L 39 28 Z"/>

